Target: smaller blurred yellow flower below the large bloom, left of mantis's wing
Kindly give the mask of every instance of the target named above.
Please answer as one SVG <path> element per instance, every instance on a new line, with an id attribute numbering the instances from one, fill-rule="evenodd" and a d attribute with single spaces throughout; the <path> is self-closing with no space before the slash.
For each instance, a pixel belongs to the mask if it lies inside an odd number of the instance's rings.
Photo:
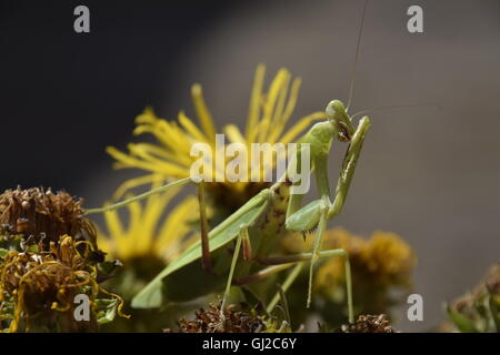
<path id="1" fill-rule="evenodd" d="M 152 189 L 163 182 L 160 176 L 154 178 Z M 123 189 L 127 186 L 118 190 L 114 197 L 119 197 Z M 126 262 L 148 257 L 164 263 L 174 260 L 193 241 L 196 232 L 192 232 L 191 223 L 198 219 L 199 210 L 197 197 L 189 195 L 166 216 L 166 209 L 179 191 L 180 187 L 173 187 L 149 196 L 144 203 L 130 203 L 127 224 L 122 222 L 119 211 L 104 212 L 108 233 L 99 233 L 99 245 L 104 252 Z"/>

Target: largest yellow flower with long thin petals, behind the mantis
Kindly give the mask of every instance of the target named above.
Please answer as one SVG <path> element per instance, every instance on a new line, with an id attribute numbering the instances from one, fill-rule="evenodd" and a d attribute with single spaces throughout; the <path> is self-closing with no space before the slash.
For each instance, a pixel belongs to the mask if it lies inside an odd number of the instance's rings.
<path id="1" fill-rule="evenodd" d="M 326 118 L 323 112 L 314 112 L 301 118 L 296 124 L 287 130 L 287 124 L 296 108 L 300 79 L 291 78 L 288 70 L 281 69 L 272 80 L 267 92 L 263 91 L 264 65 L 259 65 L 256 71 L 250 106 L 244 131 L 234 124 L 222 128 L 222 132 L 228 138 L 228 143 L 242 143 L 250 152 L 251 143 L 289 143 L 297 139 L 313 121 Z M 159 174 L 163 178 L 182 179 L 190 175 L 191 164 L 198 159 L 190 155 L 193 143 L 207 143 L 212 152 L 216 150 L 216 133 L 218 130 L 212 120 L 212 115 L 207 108 L 200 84 L 192 85 L 191 97 L 197 113 L 199 125 L 190 120 L 183 111 L 179 112 L 178 122 L 167 121 L 158 118 L 148 108 L 136 119 L 137 128 L 134 135 L 143 133 L 152 134 L 156 143 L 130 143 L 129 152 L 122 152 L 109 146 L 108 153 L 116 160 L 114 168 L 137 168 L 152 173 L 151 175 L 132 179 L 128 182 L 128 187 L 148 183 Z M 222 133 L 219 132 L 219 133 Z M 250 160 L 249 160 L 250 161 Z M 264 160 L 266 162 L 267 160 Z M 217 161 L 212 165 L 212 176 L 224 176 L 228 161 Z M 251 172 L 263 176 L 272 171 L 276 160 L 271 165 L 261 164 L 261 171 Z M 242 195 L 239 203 L 244 202 L 252 194 L 264 186 L 256 182 L 224 182 L 209 184 L 212 197 L 224 199 L 229 195 L 234 197 Z M 249 179 L 250 180 L 250 179 Z M 219 191 L 213 191 L 217 185 Z M 256 186 L 257 185 L 257 186 Z M 220 201 L 219 201 L 220 202 Z M 223 204 L 220 203 L 220 204 Z"/>

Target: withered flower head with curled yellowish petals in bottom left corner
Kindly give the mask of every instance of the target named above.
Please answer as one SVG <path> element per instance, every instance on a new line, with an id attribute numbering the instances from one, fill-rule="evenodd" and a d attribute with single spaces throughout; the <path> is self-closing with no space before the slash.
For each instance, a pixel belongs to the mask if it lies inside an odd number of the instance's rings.
<path id="1" fill-rule="evenodd" d="M 90 323 L 73 318 L 77 294 L 88 295 L 94 308 L 100 292 L 111 296 L 122 315 L 123 301 L 98 284 L 92 251 L 89 242 L 69 235 L 51 241 L 47 252 L 9 251 L 0 261 L 0 320 L 11 321 L 9 332 L 17 332 L 21 322 L 29 332 L 37 318 L 63 318 L 71 332 L 93 329 L 96 318 Z"/>

